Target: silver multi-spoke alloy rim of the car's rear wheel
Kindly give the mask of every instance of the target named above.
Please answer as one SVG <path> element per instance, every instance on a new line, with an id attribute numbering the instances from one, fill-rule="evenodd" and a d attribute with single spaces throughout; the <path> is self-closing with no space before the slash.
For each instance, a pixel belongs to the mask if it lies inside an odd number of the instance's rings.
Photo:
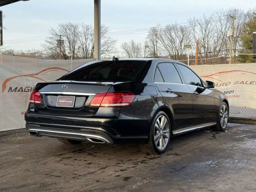
<path id="1" fill-rule="evenodd" d="M 170 137 L 170 125 L 167 118 L 163 115 L 159 116 L 154 128 L 154 141 L 159 150 L 164 150 L 168 144 Z"/>

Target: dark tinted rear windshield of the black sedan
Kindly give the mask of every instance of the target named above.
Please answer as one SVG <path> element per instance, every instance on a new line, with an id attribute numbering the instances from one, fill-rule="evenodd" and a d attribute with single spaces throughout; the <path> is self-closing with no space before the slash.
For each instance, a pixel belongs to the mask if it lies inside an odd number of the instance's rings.
<path id="1" fill-rule="evenodd" d="M 85 64 L 59 80 L 74 81 L 131 81 L 139 76 L 147 61 L 103 61 Z"/>

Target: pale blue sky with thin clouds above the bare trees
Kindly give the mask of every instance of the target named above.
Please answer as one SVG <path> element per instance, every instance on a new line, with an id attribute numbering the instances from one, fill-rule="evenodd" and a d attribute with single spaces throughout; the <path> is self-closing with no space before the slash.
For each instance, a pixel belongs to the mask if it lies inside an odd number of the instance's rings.
<path id="1" fill-rule="evenodd" d="M 150 28 L 160 24 L 184 23 L 190 17 L 211 14 L 217 9 L 254 8 L 255 0 L 101 0 L 101 23 L 110 32 Z M 0 8 L 3 20 L 3 43 L 15 50 L 42 49 L 42 38 L 19 42 L 20 39 L 46 36 L 58 23 L 93 24 L 94 0 L 29 0 Z M 113 36 L 118 44 L 135 40 L 143 42 L 146 34 Z M 10 43 L 10 40 L 15 43 Z M 6 42 L 5 42 L 6 41 Z M 9 41 L 9 42 L 8 42 Z"/>

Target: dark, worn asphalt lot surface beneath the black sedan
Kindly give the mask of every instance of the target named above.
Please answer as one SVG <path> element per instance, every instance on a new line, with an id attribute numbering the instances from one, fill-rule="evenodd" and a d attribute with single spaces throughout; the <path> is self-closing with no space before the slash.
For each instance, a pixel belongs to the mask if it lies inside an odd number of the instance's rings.
<path id="1" fill-rule="evenodd" d="M 177 136 L 162 155 L 0 132 L 0 191 L 256 191 L 256 126 Z"/>

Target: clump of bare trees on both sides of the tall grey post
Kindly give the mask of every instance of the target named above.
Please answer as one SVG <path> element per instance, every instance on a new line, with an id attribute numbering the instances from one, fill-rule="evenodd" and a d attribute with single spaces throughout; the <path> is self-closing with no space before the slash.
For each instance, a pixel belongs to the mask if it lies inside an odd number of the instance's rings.
<path id="1" fill-rule="evenodd" d="M 66 58 L 66 52 L 71 50 L 75 57 L 92 58 L 94 56 L 94 31 L 91 24 L 62 23 L 58 28 L 50 29 L 50 35 L 42 47 L 46 49 L 46 54 L 50 57 L 59 55 L 59 48 L 56 40 L 58 34 L 63 35 L 62 55 Z M 101 55 L 104 56 L 115 51 L 117 40 L 107 33 L 109 28 L 101 26 Z"/>

